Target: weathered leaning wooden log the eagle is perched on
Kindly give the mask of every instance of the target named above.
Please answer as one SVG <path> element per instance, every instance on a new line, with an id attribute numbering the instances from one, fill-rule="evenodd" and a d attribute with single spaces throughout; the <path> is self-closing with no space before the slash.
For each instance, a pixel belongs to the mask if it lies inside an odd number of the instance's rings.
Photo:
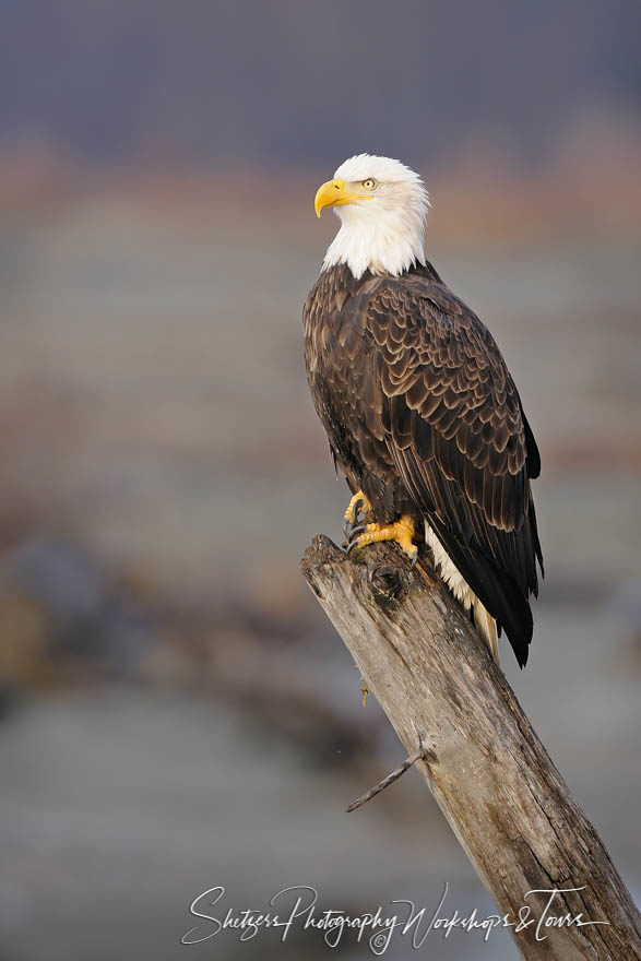
<path id="1" fill-rule="evenodd" d="M 608 925 L 512 935 L 525 959 L 641 957 L 639 913 L 596 831 L 533 731 L 501 671 L 456 602 L 422 559 L 411 571 L 390 544 L 356 562 L 314 537 L 302 572 L 407 754 L 422 771 L 503 915 L 523 905 Z M 355 692 L 357 696 L 358 692 Z M 357 815 L 352 815 L 355 817 Z"/>

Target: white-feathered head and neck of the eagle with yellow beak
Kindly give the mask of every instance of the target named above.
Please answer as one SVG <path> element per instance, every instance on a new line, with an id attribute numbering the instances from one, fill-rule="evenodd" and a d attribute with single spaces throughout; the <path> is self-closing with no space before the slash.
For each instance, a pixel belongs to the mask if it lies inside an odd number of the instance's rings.
<path id="1" fill-rule="evenodd" d="M 429 197 L 423 180 L 400 161 L 358 154 L 319 187 L 313 207 L 333 206 L 341 229 L 328 248 L 323 270 L 346 263 L 355 277 L 366 270 L 399 276 L 425 263 Z"/>

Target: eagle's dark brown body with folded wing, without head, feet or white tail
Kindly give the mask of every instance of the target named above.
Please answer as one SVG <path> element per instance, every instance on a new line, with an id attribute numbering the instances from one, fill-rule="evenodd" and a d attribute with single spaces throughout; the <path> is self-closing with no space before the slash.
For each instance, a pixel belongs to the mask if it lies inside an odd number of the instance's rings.
<path id="1" fill-rule="evenodd" d="M 352 491 L 380 523 L 429 525 L 523 665 L 541 465 L 490 333 L 429 264 L 359 280 L 329 268 L 304 324 L 313 403 Z"/>

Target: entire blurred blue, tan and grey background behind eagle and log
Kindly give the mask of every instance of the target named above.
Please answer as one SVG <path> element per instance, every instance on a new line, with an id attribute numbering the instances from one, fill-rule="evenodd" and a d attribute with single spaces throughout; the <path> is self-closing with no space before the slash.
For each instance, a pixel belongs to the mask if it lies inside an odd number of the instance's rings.
<path id="1" fill-rule="evenodd" d="M 1 961 L 328 956 L 181 947 L 215 885 L 491 911 L 416 772 L 343 812 L 403 750 L 298 568 L 347 498 L 305 382 L 312 199 L 364 151 L 425 176 L 429 257 L 521 390 L 547 577 L 503 667 L 639 894 L 638 0 L 2 13 Z"/>

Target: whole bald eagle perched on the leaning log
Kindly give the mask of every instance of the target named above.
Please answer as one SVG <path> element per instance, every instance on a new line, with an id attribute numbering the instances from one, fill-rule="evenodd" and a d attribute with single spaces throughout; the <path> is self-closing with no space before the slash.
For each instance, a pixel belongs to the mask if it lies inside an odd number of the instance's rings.
<path id="1" fill-rule="evenodd" d="M 318 216 L 325 206 L 341 227 L 305 302 L 305 357 L 353 494 L 349 549 L 396 541 L 414 562 L 424 538 L 494 659 L 503 629 L 523 667 L 537 561 L 543 574 L 541 460 L 506 361 L 425 257 L 417 174 L 351 157 L 319 188 Z"/>

